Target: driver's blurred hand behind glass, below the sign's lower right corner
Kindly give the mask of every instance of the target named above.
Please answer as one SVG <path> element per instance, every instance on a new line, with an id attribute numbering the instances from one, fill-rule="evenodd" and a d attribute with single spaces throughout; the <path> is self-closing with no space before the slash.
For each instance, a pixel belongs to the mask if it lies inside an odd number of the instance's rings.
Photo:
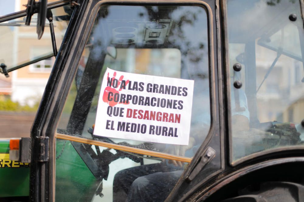
<path id="1" fill-rule="evenodd" d="M 166 150 L 165 153 L 170 153 L 176 156 L 185 156 L 185 152 L 189 149 L 191 149 L 194 145 L 194 138 L 189 138 L 189 144 L 188 145 L 170 145 Z M 177 161 L 177 160 L 168 160 L 168 163 L 172 163 L 174 166 L 183 167 L 183 162 Z"/>

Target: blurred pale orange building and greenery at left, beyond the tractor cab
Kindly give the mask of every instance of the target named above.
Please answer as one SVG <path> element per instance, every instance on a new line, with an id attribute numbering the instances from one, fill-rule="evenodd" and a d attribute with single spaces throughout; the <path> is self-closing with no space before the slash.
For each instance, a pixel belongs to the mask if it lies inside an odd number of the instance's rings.
<path id="1" fill-rule="evenodd" d="M 48 0 L 48 2 L 52 2 Z M 0 15 L 26 9 L 27 0 L 0 0 Z M 57 47 L 60 46 L 68 21 L 63 8 L 52 9 Z M 55 18 L 55 16 L 59 16 Z M 46 27 L 42 39 L 37 39 L 36 14 L 31 25 L 24 25 L 25 17 L 1 23 L 0 63 L 7 69 L 25 62 L 52 54 L 50 29 Z M 0 75 L 0 138 L 26 137 L 30 134 L 36 110 L 50 76 L 55 57 L 36 62 L 9 73 Z"/>

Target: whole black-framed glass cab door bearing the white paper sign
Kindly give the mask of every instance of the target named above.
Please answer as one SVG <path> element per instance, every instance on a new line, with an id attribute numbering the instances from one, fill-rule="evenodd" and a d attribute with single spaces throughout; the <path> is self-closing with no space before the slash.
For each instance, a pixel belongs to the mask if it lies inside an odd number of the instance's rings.
<path id="1" fill-rule="evenodd" d="M 183 200 L 222 168 L 214 2 L 77 4 L 32 130 L 48 154 L 32 199 Z"/>

